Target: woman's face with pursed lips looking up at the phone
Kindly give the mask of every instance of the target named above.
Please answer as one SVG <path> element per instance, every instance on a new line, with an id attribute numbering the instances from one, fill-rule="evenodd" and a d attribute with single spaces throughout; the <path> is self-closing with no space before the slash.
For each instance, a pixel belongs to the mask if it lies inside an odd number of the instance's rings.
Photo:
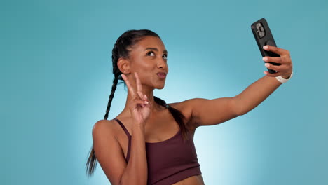
<path id="1" fill-rule="evenodd" d="M 162 89 L 168 74 L 167 56 L 164 43 L 156 36 L 145 36 L 130 51 L 130 71 L 136 71 L 145 88 Z M 165 73 L 165 76 L 158 75 Z"/>

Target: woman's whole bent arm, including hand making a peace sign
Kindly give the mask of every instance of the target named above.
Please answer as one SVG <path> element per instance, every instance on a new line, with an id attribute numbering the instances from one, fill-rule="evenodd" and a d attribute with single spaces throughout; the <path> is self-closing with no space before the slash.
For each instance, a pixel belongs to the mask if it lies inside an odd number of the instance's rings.
<path id="1" fill-rule="evenodd" d="M 93 128 L 93 143 L 95 154 L 111 184 L 146 185 L 148 178 L 146 143 L 144 127 L 149 118 L 151 103 L 142 94 L 142 83 L 135 73 L 137 90 L 132 87 L 127 76 L 122 74 L 128 86 L 131 99 L 128 107 L 132 115 L 131 153 L 128 164 L 125 162 L 121 146 L 119 146 L 113 129 L 107 121 L 98 121 Z"/>

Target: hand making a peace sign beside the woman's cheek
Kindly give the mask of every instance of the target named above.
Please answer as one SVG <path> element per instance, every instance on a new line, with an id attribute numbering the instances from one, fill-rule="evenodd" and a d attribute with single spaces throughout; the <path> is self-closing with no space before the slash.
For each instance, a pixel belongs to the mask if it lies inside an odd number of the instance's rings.
<path id="1" fill-rule="evenodd" d="M 132 118 L 134 119 L 135 123 L 144 126 L 150 115 L 151 104 L 148 101 L 148 97 L 142 94 L 142 85 L 139 76 L 137 72 L 135 72 L 137 92 L 135 92 L 135 89 L 132 88 L 128 78 L 124 74 L 121 74 L 121 76 L 128 86 L 128 90 L 132 96 L 132 100 L 128 102 L 128 107 L 130 109 Z"/>

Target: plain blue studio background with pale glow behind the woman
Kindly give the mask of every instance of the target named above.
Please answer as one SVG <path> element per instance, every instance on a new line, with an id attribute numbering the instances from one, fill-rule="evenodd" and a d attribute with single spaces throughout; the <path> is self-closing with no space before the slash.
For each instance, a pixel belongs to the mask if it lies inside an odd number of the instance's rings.
<path id="1" fill-rule="evenodd" d="M 233 97 L 266 70 L 250 25 L 266 18 L 294 77 L 249 113 L 198 128 L 205 184 L 328 184 L 328 1 L 1 1 L 1 184 L 87 178 L 111 91 L 111 49 L 151 29 L 168 49 L 166 102 Z M 124 106 L 118 85 L 109 119 Z"/>

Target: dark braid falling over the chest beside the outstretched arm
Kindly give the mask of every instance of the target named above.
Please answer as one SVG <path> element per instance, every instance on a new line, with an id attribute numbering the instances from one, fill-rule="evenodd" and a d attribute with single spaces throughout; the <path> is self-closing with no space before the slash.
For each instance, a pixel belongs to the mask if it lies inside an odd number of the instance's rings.
<path id="1" fill-rule="evenodd" d="M 182 131 L 184 141 L 188 140 L 189 130 L 186 128 L 186 125 L 184 125 L 184 114 L 182 114 L 181 111 L 179 111 L 178 109 L 171 107 L 170 104 L 166 104 L 166 102 L 160 99 L 159 97 L 153 96 L 153 100 L 155 100 L 157 104 L 168 108 L 173 118 L 175 118 L 175 121 L 177 121 L 177 123 L 179 124 L 179 128 Z"/>

